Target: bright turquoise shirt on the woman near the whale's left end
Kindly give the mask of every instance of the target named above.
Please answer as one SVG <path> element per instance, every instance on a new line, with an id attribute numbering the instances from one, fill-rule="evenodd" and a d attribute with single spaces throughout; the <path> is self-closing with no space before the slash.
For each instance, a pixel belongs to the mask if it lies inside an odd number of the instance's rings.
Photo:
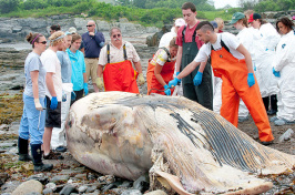
<path id="1" fill-rule="evenodd" d="M 77 50 L 75 53 L 71 52 L 70 49 L 67 49 L 69 58 L 72 64 L 72 76 L 71 82 L 73 83 L 73 91 L 83 90 L 84 86 L 84 78 L 83 73 L 87 72 L 85 70 L 85 61 L 84 55 L 81 51 Z"/>

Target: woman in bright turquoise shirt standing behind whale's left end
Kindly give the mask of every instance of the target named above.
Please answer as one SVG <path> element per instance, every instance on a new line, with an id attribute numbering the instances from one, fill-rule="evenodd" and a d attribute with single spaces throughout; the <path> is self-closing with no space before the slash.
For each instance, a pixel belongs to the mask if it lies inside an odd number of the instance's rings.
<path id="1" fill-rule="evenodd" d="M 81 41 L 82 39 L 80 34 L 73 34 L 71 48 L 67 49 L 72 65 L 71 82 L 73 83 L 73 91 L 77 95 L 75 100 L 72 100 L 71 104 L 81 99 L 83 94 L 88 94 L 88 80 L 84 55 L 81 51 L 79 51 Z"/>

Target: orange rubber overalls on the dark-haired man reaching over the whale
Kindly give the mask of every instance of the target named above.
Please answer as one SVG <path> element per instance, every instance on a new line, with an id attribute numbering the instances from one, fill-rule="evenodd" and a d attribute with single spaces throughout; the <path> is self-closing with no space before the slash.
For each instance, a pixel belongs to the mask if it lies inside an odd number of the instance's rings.
<path id="1" fill-rule="evenodd" d="M 273 141 L 274 136 L 255 75 L 255 84 L 248 88 L 245 60 L 234 58 L 222 40 L 221 45 L 222 49 L 217 51 L 211 45 L 214 75 L 223 81 L 221 115 L 237 126 L 240 98 L 242 98 L 258 129 L 260 140 Z"/>

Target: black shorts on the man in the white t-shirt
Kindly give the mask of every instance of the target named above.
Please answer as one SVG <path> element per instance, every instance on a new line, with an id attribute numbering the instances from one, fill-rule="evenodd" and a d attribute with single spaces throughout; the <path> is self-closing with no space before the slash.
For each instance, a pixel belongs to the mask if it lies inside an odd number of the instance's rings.
<path id="1" fill-rule="evenodd" d="M 55 110 L 50 109 L 51 101 L 47 96 L 45 127 L 61 127 L 61 102 Z"/>

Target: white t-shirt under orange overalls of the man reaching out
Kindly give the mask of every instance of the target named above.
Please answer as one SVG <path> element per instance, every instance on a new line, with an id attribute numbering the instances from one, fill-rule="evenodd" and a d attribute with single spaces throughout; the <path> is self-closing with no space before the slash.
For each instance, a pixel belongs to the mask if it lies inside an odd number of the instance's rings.
<path id="1" fill-rule="evenodd" d="M 236 59 L 245 59 L 245 57 L 236 51 L 236 49 L 240 47 L 240 41 L 237 38 L 228 32 L 223 32 L 223 33 L 217 33 L 217 40 L 215 43 L 206 43 L 203 44 L 202 48 L 200 49 L 197 55 L 195 57 L 194 61 L 195 62 L 205 62 L 207 61 L 207 57 L 211 55 L 211 45 L 213 45 L 214 50 L 221 50 L 221 39 L 224 42 L 224 44 L 228 48 L 230 52 L 234 58 Z"/>

